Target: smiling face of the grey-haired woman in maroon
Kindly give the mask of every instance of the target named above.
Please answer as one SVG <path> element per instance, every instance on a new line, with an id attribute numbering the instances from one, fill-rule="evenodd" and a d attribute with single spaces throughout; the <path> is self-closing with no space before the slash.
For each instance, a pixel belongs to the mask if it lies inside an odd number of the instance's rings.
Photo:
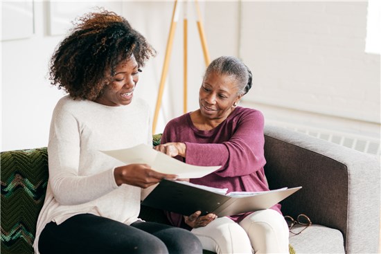
<path id="1" fill-rule="evenodd" d="M 220 75 L 214 71 L 202 82 L 199 92 L 200 113 L 205 120 L 225 120 L 238 103 L 238 84 L 233 75 Z"/>

